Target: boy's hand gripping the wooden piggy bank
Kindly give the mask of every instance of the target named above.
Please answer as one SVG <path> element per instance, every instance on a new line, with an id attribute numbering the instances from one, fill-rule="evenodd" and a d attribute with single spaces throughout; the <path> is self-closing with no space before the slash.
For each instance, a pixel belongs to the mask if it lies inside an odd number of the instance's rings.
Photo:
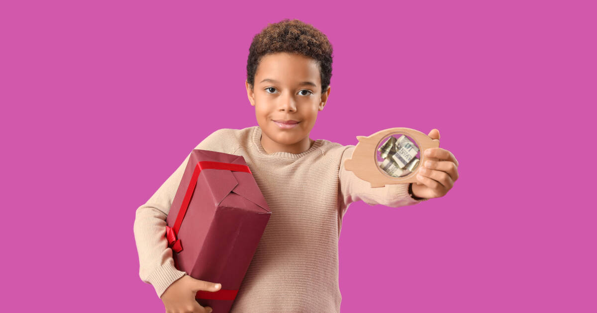
<path id="1" fill-rule="evenodd" d="M 438 129 L 432 129 L 428 136 L 439 140 Z M 418 182 L 413 183 L 413 194 L 426 199 L 443 197 L 458 179 L 458 161 L 444 148 L 429 148 L 425 157 L 417 173 Z"/>

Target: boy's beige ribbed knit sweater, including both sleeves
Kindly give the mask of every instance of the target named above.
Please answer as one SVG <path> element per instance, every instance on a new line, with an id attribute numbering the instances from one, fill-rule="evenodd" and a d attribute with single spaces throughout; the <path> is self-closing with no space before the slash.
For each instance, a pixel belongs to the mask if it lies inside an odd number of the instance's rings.
<path id="1" fill-rule="evenodd" d="M 371 188 L 346 171 L 355 145 L 316 140 L 303 153 L 267 154 L 260 139 L 259 126 L 219 129 L 195 147 L 244 157 L 272 210 L 230 312 L 340 312 L 338 238 L 349 204 L 399 207 L 421 200 L 409 196 L 408 184 Z M 189 155 L 136 211 L 139 275 L 158 296 L 187 274 L 174 267 L 164 234 Z"/>

